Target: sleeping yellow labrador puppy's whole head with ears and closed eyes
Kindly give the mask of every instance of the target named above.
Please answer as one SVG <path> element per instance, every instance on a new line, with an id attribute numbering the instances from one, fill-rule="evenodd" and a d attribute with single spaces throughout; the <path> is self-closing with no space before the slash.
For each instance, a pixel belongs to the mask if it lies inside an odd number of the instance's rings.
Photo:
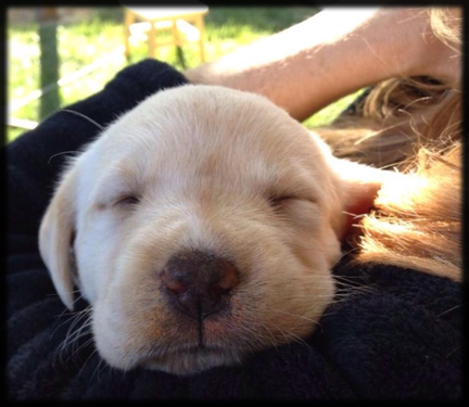
<path id="1" fill-rule="evenodd" d="M 305 338 L 331 303 L 346 212 L 394 174 L 334 158 L 268 100 L 159 92 L 74 158 L 39 245 L 113 367 L 177 374 Z"/>

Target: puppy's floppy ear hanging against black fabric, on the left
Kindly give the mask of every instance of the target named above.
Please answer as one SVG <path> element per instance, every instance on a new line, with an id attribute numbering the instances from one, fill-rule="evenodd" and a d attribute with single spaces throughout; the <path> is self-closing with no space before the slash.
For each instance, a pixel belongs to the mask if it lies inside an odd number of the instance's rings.
<path id="1" fill-rule="evenodd" d="M 39 252 L 62 302 L 73 310 L 72 241 L 75 234 L 75 171 L 62 178 L 39 229 Z"/>

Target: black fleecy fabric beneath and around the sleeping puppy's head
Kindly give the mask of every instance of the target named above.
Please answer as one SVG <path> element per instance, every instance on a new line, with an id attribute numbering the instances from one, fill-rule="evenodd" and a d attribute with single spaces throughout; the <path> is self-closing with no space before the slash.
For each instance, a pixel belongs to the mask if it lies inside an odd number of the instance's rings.
<path id="1" fill-rule="evenodd" d="M 69 106 L 105 126 L 163 88 L 187 82 L 148 60 L 122 71 L 101 92 Z M 91 334 L 58 352 L 77 332 L 42 264 L 37 233 L 63 166 L 99 129 L 58 112 L 7 148 L 7 379 L 13 399 L 457 399 L 461 396 L 461 290 L 446 279 L 395 267 L 334 274 L 356 285 L 338 297 L 304 343 L 254 355 L 242 366 L 189 378 L 109 368 Z M 51 158 L 52 157 L 52 158 Z M 88 306 L 84 301 L 76 310 Z M 83 314 L 85 316 L 85 314 Z"/>

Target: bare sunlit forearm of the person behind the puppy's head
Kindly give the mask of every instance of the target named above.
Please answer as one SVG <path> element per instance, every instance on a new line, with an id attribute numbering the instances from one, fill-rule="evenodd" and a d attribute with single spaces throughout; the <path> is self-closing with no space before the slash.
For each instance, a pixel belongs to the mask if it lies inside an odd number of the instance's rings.
<path id="1" fill-rule="evenodd" d="M 367 85 L 427 74 L 430 34 L 427 9 L 330 9 L 186 74 L 264 94 L 302 120 Z M 453 62 L 436 74 L 454 74 Z"/>

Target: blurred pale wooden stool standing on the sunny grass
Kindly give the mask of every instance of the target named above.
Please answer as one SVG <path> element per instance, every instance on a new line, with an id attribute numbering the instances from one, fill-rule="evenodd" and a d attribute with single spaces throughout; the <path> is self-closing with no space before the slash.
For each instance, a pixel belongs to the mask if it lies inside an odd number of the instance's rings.
<path id="1" fill-rule="evenodd" d="M 130 36 L 141 30 L 148 30 L 149 56 L 155 58 L 156 47 L 180 46 L 186 41 L 199 41 L 201 61 L 205 62 L 204 53 L 204 15 L 208 12 L 206 5 L 190 8 L 144 8 L 128 7 L 125 9 L 125 54 L 130 56 Z M 136 23 L 137 20 L 143 21 Z M 192 23 L 192 24 L 190 24 Z M 163 43 L 156 42 L 156 33 L 164 29 L 173 31 L 173 39 Z"/>

